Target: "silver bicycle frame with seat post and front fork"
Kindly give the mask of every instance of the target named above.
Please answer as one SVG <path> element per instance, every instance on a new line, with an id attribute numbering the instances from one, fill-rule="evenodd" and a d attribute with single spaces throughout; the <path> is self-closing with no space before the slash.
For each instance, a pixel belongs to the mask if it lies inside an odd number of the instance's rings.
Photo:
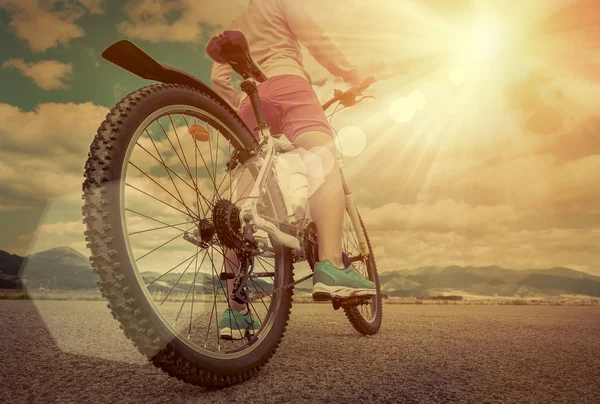
<path id="1" fill-rule="evenodd" d="M 242 83 L 242 90 L 246 94 L 248 94 L 248 97 L 250 98 L 250 102 L 252 104 L 254 114 L 256 117 L 256 122 L 258 124 L 257 129 L 259 133 L 258 149 L 255 151 L 255 156 L 252 157 L 248 161 L 248 163 L 260 167 L 260 170 L 258 172 L 252 190 L 250 191 L 248 197 L 246 198 L 246 201 L 241 207 L 240 223 L 252 223 L 256 225 L 257 228 L 269 233 L 277 242 L 285 245 L 286 247 L 296 250 L 300 255 L 304 255 L 304 252 L 302 251 L 302 246 L 300 244 L 300 240 L 298 238 L 290 234 L 284 233 L 279 228 L 277 228 L 277 226 L 274 223 L 269 222 L 258 215 L 258 201 L 260 197 L 266 192 L 265 188 L 267 180 L 269 179 L 269 175 L 274 172 L 274 163 L 277 154 L 292 151 L 296 149 L 296 146 L 283 140 L 276 139 L 272 136 L 270 125 L 268 124 L 268 122 L 266 122 L 264 118 L 260 102 L 260 96 L 258 95 L 257 88 L 258 86 L 256 85 L 256 82 L 253 79 L 247 79 Z M 357 235 L 361 254 L 363 256 L 368 257 L 369 248 L 365 236 L 362 232 L 362 227 L 360 224 L 360 218 L 358 216 L 358 209 L 356 207 L 354 196 L 350 191 L 350 187 L 348 186 L 348 183 L 346 181 L 346 176 L 344 175 L 343 159 L 339 151 L 337 152 L 336 158 L 340 167 L 342 187 L 344 189 L 345 194 L 346 211 L 350 216 L 350 220 Z M 292 208 L 288 201 L 288 196 L 283 195 L 283 199 L 287 210 L 286 213 L 289 217 L 292 215 Z"/>

